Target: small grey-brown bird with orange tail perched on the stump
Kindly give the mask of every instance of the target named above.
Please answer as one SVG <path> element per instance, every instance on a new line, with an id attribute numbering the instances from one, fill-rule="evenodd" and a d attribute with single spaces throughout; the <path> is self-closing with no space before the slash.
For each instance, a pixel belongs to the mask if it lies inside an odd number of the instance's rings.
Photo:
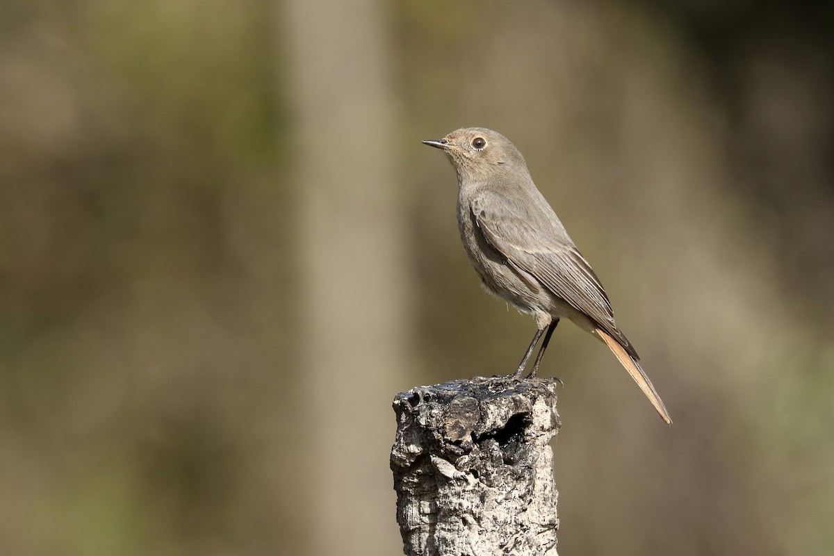
<path id="1" fill-rule="evenodd" d="M 535 318 L 538 329 L 512 377 L 520 377 L 544 333 L 528 375 L 535 377 L 551 334 L 567 317 L 614 352 L 671 425 L 635 348 L 614 322 L 600 279 L 535 187 L 519 150 L 486 128 L 462 128 L 423 143 L 443 149 L 458 173 L 460 238 L 484 287 Z"/>

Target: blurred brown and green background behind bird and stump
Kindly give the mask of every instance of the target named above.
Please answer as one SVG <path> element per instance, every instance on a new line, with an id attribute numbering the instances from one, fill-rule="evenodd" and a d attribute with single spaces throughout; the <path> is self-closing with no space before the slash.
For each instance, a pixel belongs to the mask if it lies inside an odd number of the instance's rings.
<path id="1" fill-rule="evenodd" d="M 670 409 L 558 328 L 560 553 L 834 551 L 827 3 L 7 0 L 0 553 L 401 553 L 394 394 L 509 373 L 518 146 Z"/>

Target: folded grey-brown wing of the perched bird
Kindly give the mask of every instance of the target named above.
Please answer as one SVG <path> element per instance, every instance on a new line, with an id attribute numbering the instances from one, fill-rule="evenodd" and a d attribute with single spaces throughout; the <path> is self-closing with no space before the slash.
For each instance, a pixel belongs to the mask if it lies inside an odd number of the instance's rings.
<path id="1" fill-rule="evenodd" d="M 470 209 L 486 240 L 510 264 L 530 273 L 545 288 L 585 313 L 635 358 L 637 354 L 614 323 L 614 313 L 600 279 L 570 241 L 555 215 L 535 218 L 520 203 L 503 195 L 482 192 Z M 551 218 L 552 217 L 552 218 Z"/>

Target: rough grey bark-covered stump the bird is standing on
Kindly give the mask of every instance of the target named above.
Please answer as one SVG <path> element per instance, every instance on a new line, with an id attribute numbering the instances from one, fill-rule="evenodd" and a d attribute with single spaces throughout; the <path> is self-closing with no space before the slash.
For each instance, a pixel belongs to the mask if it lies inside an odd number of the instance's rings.
<path id="1" fill-rule="evenodd" d="M 555 381 L 476 377 L 394 398 L 391 469 L 409 556 L 556 556 Z"/>

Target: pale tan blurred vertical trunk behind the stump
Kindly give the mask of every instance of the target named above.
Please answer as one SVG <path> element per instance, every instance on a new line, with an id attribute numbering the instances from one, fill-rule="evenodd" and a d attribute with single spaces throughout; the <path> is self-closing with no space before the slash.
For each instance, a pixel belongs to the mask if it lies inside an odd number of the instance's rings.
<path id="1" fill-rule="evenodd" d="M 285 14 L 311 553 L 400 553 L 387 453 L 409 310 L 384 3 L 289 0 Z"/>

